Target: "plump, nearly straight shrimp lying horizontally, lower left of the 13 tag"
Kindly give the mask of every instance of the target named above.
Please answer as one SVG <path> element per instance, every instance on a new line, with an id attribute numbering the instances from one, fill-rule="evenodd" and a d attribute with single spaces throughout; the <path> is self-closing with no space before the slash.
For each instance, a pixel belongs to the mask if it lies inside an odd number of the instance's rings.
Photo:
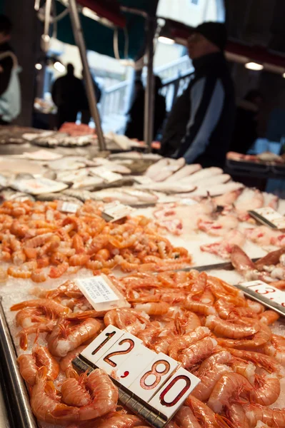
<path id="1" fill-rule="evenodd" d="M 215 315 L 206 317 L 205 326 L 209 327 L 209 329 L 214 332 L 214 335 L 230 337 L 231 339 L 241 339 L 243 337 L 252 336 L 260 330 L 260 325 L 254 323 L 253 320 L 249 318 L 226 321 L 221 320 L 221 318 Z"/>

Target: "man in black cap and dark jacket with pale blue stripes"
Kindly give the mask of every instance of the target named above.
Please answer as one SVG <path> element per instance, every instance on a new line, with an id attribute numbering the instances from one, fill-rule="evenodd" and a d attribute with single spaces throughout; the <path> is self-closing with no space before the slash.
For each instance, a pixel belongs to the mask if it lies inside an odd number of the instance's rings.
<path id="1" fill-rule="evenodd" d="M 234 84 L 224 57 L 226 39 L 224 24 L 217 22 L 205 22 L 189 36 L 195 71 L 169 115 L 161 155 L 224 167 L 235 116 Z"/>

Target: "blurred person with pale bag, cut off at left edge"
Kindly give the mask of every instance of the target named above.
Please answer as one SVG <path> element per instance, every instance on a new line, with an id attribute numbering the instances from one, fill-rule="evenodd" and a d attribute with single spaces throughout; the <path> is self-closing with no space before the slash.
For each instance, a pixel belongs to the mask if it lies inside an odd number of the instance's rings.
<path id="1" fill-rule="evenodd" d="M 9 123 L 21 111 L 19 66 L 10 45 L 12 23 L 0 14 L 0 125 Z"/>

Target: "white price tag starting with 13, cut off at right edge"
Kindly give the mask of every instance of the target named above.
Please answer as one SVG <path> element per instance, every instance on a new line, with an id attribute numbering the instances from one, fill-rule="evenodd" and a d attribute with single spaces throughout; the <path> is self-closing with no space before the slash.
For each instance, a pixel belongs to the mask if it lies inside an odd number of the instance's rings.
<path id="1" fill-rule="evenodd" d="M 243 291 L 245 295 L 251 297 L 257 302 L 275 310 L 280 315 L 285 317 L 285 292 L 278 290 L 266 282 L 256 280 L 250 282 L 242 282 L 235 285 L 239 290 Z"/>

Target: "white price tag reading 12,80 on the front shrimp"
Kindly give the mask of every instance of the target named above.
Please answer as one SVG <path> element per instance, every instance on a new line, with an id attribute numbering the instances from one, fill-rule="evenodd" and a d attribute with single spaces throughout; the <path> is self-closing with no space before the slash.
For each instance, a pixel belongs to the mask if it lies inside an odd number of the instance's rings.
<path id="1" fill-rule="evenodd" d="M 173 417 L 200 379 L 168 355 L 149 350 L 130 333 L 109 325 L 81 352 L 89 365 L 105 370 L 139 404 L 155 409 L 165 423 Z M 143 414 L 142 414 L 143 416 Z"/>

